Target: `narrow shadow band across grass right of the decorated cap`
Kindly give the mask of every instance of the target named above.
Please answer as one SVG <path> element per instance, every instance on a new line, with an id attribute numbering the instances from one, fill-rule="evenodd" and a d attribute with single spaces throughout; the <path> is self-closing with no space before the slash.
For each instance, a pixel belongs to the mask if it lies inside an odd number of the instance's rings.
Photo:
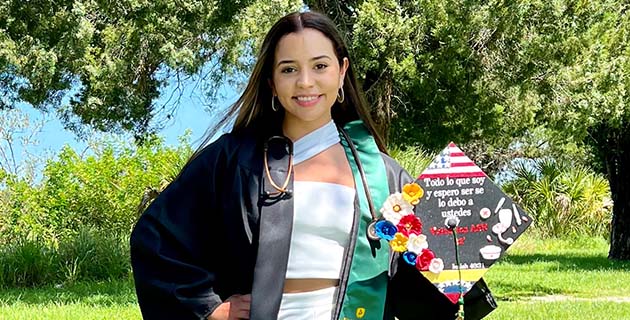
<path id="1" fill-rule="evenodd" d="M 630 269 L 630 261 L 612 261 L 601 255 L 584 254 L 508 254 L 501 263 L 532 264 L 551 262 L 558 271 L 626 271 Z"/>

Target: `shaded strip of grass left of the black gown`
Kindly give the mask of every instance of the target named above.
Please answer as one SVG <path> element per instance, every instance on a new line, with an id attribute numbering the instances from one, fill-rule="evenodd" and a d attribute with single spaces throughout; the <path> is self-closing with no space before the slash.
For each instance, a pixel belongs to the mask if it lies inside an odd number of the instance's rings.
<path id="1" fill-rule="evenodd" d="M 39 288 L 10 288 L 0 290 L 0 306 L 13 304 L 83 304 L 116 306 L 136 303 L 131 279 L 99 282 L 80 282 L 67 286 Z"/>

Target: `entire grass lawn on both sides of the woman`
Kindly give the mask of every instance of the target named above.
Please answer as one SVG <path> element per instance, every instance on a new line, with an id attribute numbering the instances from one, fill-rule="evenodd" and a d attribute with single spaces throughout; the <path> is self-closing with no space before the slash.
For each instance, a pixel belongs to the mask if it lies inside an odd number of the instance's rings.
<path id="1" fill-rule="evenodd" d="M 603 239 L 524 236 L 485 278 L 499 308 L 486 319 L 630 319 L 630 262 Z M 140 319 L 131 280 L 0 292 L 0 319 Z"/>

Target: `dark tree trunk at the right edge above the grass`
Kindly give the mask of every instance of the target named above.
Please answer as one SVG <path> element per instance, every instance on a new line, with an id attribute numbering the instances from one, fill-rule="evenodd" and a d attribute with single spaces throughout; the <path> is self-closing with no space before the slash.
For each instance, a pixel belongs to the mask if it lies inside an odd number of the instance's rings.
<path id="1" fill-rule="evenodd" d="M 611 131 L 600 144 L 614 202 L 608 258 L 630 260 L 630 132 Z"/>

